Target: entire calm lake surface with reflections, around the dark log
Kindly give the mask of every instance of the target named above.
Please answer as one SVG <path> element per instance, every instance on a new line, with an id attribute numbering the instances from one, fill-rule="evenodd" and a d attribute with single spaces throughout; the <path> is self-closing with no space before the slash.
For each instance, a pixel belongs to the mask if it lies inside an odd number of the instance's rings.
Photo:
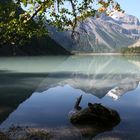
<path id="1" fill-rule="evenodd" d="M 139 140 L 139 81 L 139 56 L 0 58 L 0 127 L 75 129 L 68 114 L 83 95 L 83 108 L 102 103 L 121 118 L 109 130 L 93 126 L 83 139 Z"/>

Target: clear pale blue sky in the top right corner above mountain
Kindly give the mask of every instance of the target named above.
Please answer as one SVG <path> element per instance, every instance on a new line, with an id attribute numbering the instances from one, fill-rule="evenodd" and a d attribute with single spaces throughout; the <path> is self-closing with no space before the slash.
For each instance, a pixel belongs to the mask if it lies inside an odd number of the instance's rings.
<path id="1" fill-rule="evenodd" d="M 140 0 L 116 0 L 125 10 L 125 13 L 140 19 Z"/>

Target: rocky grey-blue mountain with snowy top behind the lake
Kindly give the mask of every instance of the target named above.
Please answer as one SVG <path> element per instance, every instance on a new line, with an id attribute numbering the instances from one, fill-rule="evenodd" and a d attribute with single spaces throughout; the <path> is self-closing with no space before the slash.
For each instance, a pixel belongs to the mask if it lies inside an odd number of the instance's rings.
<path id="1" fill-rule="evenodd" d="M 57 32 L 52 27 L 50 30 L 51 37 L 71 52 L 117 52 L 140 38 L 139 20 L 125 13 L 87 18 L 78 24 L 75 39 L 71 38 L 71 31 Z"/>

